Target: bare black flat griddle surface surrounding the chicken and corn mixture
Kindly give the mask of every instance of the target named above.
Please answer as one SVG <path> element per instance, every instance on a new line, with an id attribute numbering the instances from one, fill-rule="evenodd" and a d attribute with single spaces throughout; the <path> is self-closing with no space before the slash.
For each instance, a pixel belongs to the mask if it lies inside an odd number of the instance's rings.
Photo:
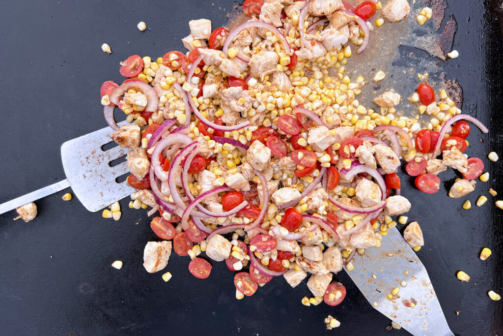
<path id="1" fill-rule="evenodd" d="M 503 197 L 503 183 L 501 160 L 492 163 L 486 153 L 494 150 L 503 157 L 502 9 L 500 1 L 451 2 L 455 5 L 447 14 L 454 13 L 459 24 L 454 48 L 460 57 L 439 63 L 463 87 L 463 110 L 489 125 L 490 138 L 472 132 L 467 153 L 482 157 L 491 179 L 463 199 L 449 198 L 447 189 L 426 195 L 407 178 L 402 178 L 409 184 L 402 192 L 412 203 L 409 219 L 422 225 L 426 246 L 418 255 L 451 329 L 501 335 L 503 301 L 491 301 L 486 292 L 503 295 L 503 211 L 494 206 L 499 197 L 487 190 L 493 187 Z M 106 126 L 99 89 L 105 80 L 122 80 L 119 61 L 135 53 L 154 57 L 181 50 L 190 19 L 208 18 L 215 27 L 224 23 L 232 5 L 230 0 L 4 1 L 0 202 L 64 178 L 60 145 Z M 136 28 L 139 21 L 146 22 L 147 31 Z M 111 55 L 101 51 L 104 42 Z M 441 177 L 447 188 L 455 174 L 451 170 Z M 62 201 L 63 193 L 37 201 L 39 215 L 28 224 L 12 221 L 14 212 L 0 216 L 0 334 L 330 334 L 323 323 L 328 314 L 341 321 L 338 334 L 387 334 L 389 320 L 372 309 L 344 272 L 338 278 L 348 295 L 337 307 L 302 306 L 301 298 L 310 294 L 305 282 L 292 289 L 283 279 L 238 301 L 232 273 L 222 262 L 213 263 L 209 279 L 199 280 L 188 272 L 188 257 L 173 254 L 164 271 L 148 274 L 142 253 L 154 235 L 145 211 L 122 201 L 121 220 L 105 220 L 75 198 Z M 478 208 L 474 204 L 481 194 L 489 200 Z M 461 209 L 465 198 L 472 201 L 469 211 Z M 484 246 L 493 254 L 481 261 Z M 116 259 L 124 262 L 120 271 L 110 266 Z M 460 283 L 458 270 L 471 281 Z M 161 279 L 166 271 L 173 274 L 169 283 Z"/>

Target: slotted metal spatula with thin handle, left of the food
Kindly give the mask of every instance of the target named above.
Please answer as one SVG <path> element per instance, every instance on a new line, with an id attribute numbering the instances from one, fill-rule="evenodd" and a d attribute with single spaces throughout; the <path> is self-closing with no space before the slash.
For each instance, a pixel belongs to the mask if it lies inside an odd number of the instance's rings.
<path id="1" fill-rule="evenodd" d="M 125 124 L 121 122 L 119 125 Z M 110 162 L 123 157 L 129 149 L 113 147 L 107 151 L 113 129 L 105 127 L 85 136 L 65 142 L 61 146 L 61 160 L 66 179 L 35 190 L 0 205 L 0 214 L 21 207 L 54 192 L 71 187 L 87 210 L 96 212 L 135 191 L 126 181 L 116 178 L 128 172 L 127 163 L 111 166 Z"/>

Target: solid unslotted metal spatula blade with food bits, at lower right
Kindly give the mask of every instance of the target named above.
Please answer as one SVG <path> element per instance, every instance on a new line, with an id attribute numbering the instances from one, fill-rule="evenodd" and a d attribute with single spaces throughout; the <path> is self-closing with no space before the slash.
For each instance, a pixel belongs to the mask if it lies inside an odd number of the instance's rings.
<path id="1" fill-rule="evenodd" d="M 370 304 L 392 321 L 414 336 L 454 335 L 425 266 L 396 228 L 388 230 L 380 247 L 366 249 L 363 256 L 355 254 L 353 264 L 348 275 Z M 388 300 L 394 288 L 400 291 Z M 410 303 L 415 306 L 407 307 Z"/>

